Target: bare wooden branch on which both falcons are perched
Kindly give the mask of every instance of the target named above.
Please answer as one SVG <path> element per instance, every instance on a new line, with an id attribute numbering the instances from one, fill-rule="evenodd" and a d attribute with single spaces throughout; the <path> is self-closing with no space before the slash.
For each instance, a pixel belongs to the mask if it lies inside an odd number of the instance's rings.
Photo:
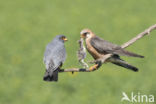
<path id="1" fill-rule="evenodd" d="M 144 37 L 145 35 L 149 35 L 151 31 L 153 31 L 154 29 L 156 29 L 156 24 L 150 26 L 149 28 L 147 28 L 146 30 L 144 30 L 143 32 L 141 32 L 140 34 L 138 34 L 136 37 L 132 38 L 131 40 L 129 40 L 128 42 L 124 43 L 123 45 L 121 45 L 122 48 L 127 48 L 128 46 L 130 46 L 131 44 L 133 44 L 134 42 L 136 42 L 137 40 L 141 39 L 142 37 Z M 97 70 L 103 63 L 105 63 L 105 61 L 107 59 L 109 59 L 112 56 L 112 54 L 107 54 L 105 55 L 103 58 L 98 59 L 98 60 L 94 60 L 94 63 L 96 63 L 95 65 L 91 66 L 88 69 L 81 69 L 81 68 L 71 68 L 71 69 L 61 69 L 59 72 L 91 72 L 91 71 L 95 71 Z M 98 64 L 97 64 L 98 63 Z M 98 67 L 97 69 L 95 69 L 95 67 Z"/>

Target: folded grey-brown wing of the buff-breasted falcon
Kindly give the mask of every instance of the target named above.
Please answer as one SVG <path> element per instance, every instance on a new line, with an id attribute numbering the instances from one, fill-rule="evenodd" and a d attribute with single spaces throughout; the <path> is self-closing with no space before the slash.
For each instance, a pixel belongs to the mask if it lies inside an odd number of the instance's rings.
<path id="1" fill-rule="evenodd" d="M 106 40 L 103 40 L 97 36 L 91 38 L 90 43 L 96 49 L 96 51 L 102 54 L 111 53 L 111 54 L 118 54 L 123 56 L 132 56 L 132 57 L 140 57 L 140 58 L 144 57 L 132 52 L 128 52 L 122 49 L 120 46 L 110 43 Z"/>

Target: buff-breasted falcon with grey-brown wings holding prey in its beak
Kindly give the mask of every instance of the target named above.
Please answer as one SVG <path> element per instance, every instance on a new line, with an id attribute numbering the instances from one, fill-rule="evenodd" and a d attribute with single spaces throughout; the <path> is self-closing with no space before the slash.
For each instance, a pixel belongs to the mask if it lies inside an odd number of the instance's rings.
<path id="1" fill-rule="evenodd" d="M 139 57 L 143 58 L 144 56 L 126 51 L 122 49 L 119 45 L 113 44 L 102 38 L 96 36 L 91 30 L 84 29 L 80 32 L 81 38 L 85 39 L 86 48 L 88 52 L 92 55 L 95 60 L 102 58 L 104 55 L 112 54 L 111 58 L 107 59 L 107 62 L 111 62 L 115 65 L 122 66 L 124 68 L 138 71 L 138 68 L 132 66 L 122 60 L 121 56 L 131 56 L 131 57 Z M 96 68 L 98 65 L 93 66 Z"/>

